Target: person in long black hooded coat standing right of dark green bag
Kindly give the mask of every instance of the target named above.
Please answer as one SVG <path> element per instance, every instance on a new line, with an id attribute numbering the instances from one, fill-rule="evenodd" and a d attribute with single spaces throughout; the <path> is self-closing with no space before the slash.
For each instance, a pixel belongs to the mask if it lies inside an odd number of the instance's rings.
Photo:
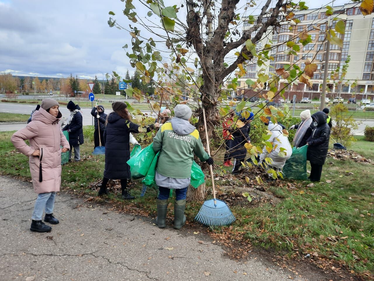
<path id="1" fill-rule="evenodd" d="M 307 160 L 310 161 L 311 166 L 309 179 L 311 181 L 320 181 L 322 167 L 325 164 L 328 151 L 330 127 L 327 124 L 327 116 L 322 111 L 313 114 L 312 119 L 314 129 L 307 141 Z"/>

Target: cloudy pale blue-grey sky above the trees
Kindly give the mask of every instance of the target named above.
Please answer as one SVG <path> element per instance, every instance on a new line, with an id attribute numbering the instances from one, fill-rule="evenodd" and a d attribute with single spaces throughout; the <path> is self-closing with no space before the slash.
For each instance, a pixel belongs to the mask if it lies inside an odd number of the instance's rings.
<path id="1" fill-rule="evenodd" d="M 348 2 L 336 0 L 334 5 Z M 262 1 L 257 3 L 261 6 Z M 142 7 L 137 0 L 134 4 Z M 325 4 L 324 0 L 306 0 L 310 8 Z M 131 36 L 107 24 L 108 12 L 113 11 L 117 21 L 128 27 L 124 8 L 120 0 L 0 0 L 0 72 L 49 77 L 73 73 L 81 78 L 98 75 L 99 79 L 99 71 L 124 75 L 129 69 L 132 73 L 122 49 L 125 44 L 131 46 Z"/>

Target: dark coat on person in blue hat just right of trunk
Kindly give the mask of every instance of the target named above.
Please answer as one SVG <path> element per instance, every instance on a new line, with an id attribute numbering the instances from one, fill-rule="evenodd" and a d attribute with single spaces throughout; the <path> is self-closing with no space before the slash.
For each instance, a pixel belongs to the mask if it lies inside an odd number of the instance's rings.
<path id="1" fill-rule="evenodd" d="M 246 120 L 240 120 L 246 122 Z M 230 134 L 234 137 L 230 147 L 230 158 L 244 159 L 247 154 L 247 149 L 244 147 L 245 143 L 251 141 L 249 133 L 251 132 L 251 124 L 245 125 L 239 129 L 229 129 Z"/>

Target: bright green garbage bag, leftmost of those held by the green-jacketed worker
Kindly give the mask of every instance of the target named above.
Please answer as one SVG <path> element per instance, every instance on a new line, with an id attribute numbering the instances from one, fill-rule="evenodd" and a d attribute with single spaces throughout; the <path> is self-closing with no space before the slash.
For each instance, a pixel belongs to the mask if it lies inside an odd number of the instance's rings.
<path id="1" fill-rule="evenodd" d="M 127 164 L 130 166 L 131 177 L 133 179 L 144 178 L 151 166 L 154 156 L 153 143 L 143 148 L 137 155 L 130 158 Z"/>

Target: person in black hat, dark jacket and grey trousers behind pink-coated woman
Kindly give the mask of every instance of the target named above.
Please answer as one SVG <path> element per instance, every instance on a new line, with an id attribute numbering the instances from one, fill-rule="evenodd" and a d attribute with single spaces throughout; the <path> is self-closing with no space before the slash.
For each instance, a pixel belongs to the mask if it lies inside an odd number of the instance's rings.
<path id="1" fill-rule="evenodd" d="M 79 105 L 75 105 L 71 100 L 66 106 L 70 111 L 70 116 L 67 121 L 67 125 L 62 129 L 62 131 L 69 132 L 69 161 L 71 159 L 71 151 L 74 148 L 74 160 L 80 160 L 79 145 L 82 145 L 84 142 L 83 139 L 83 117 L 79 112 Z"/>

